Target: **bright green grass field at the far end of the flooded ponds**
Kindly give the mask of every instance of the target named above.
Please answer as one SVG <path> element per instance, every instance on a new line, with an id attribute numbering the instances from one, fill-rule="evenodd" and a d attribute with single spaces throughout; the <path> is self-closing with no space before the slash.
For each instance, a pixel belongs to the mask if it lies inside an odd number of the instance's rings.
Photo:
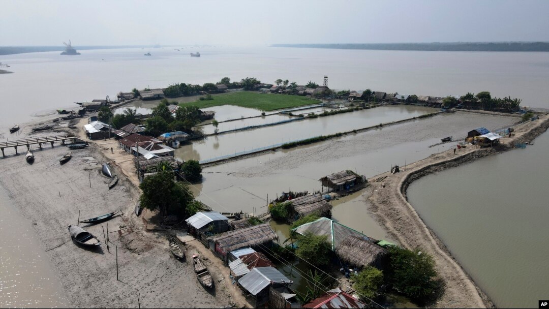
<path id="1" fill-rule="evenodd" d="M 219 105 L 237 105 L 246 108 L 255 108 L 263 111 L 272 111 L 284 108 L 293 108 L 296 106 L 317 104 L 320 100 L 311 100 L 310 98 L 299 95 L 283 95 L 271 93 L 257 93 L 254 91 L 239 91 L 232 93 L 223 93 L 212 95 L 213 100 L 190 102 L 198 108 L 208 108 Z"/>

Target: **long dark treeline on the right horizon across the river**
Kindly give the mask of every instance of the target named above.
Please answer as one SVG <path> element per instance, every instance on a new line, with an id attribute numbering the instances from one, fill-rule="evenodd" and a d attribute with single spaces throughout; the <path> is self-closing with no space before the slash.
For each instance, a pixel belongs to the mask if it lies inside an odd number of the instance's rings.
<path id="1" fill-rule="evenodd" d="M 549 52 L 549 42 L 273 44 L 271 45 L 271 47 L 380 49 L 380 50 L 439 50 L 439 51 L 446 51 L 446 52 Z"/>

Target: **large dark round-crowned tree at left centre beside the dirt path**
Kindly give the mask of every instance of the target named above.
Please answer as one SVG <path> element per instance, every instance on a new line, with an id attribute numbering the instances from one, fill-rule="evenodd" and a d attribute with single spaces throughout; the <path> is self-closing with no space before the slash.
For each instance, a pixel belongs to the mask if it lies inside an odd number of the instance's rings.
<path id="1" fill-rule="evenodd" d="M 161 216 L 187 214 L 187 206 L 194 200 L 186 184 L 176 182 L 172 171 L 161 170 L 145 177 L 139 184 L 143 191 L 139 200 L 149 210 L 159 210 Z"/>

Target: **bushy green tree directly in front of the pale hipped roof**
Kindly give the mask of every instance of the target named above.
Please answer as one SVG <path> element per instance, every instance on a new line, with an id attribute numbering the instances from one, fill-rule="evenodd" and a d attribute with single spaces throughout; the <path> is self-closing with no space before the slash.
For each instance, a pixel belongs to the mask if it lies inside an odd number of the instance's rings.
<path id="1" fill-rule="evenodd" d="M 299 237 L 299 246 L 295 254 L 313 265 L 327 266 L 330 262 L 331 246 L 327 235 L 315 235 L 306 232 Z"/>

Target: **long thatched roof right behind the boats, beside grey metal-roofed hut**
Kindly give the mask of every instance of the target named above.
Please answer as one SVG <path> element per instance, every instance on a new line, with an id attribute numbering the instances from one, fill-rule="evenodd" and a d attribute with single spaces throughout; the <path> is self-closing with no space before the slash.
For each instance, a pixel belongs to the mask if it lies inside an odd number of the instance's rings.
<path id="1" fill-rule="evenodd" d="M 257 224 L 256 226 L 237 229 L 209 237 L 214 240 L 225 252 L 233 251 L 245 246 L 257 246 L 270 243 L 278 238 L 275 231 L 268 223 Z"/>

